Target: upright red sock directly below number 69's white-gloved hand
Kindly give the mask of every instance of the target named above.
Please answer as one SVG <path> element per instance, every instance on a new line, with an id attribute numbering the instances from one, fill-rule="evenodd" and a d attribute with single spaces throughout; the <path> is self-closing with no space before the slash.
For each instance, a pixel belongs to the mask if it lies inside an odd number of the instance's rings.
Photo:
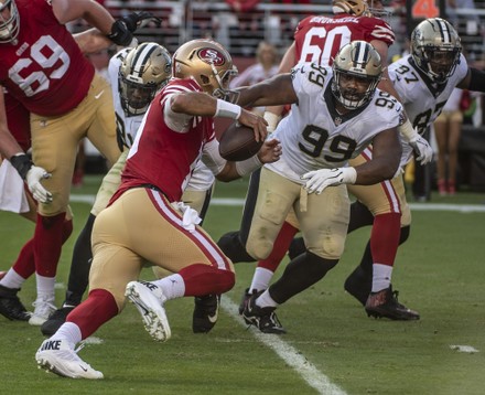
<path id="1" fill-rule="evenodd" d="M 33 248 L 35 271 L 44 277 L 55 277 L 63 245 L 64 220 L 66 213 L 54 216 L 37 214 Z"/>

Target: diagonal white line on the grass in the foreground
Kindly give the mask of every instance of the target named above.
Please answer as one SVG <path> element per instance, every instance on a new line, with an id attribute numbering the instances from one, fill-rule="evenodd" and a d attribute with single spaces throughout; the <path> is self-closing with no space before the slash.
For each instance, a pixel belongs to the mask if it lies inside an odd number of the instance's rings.
<path id="1" fill-rule="evenodd" d="M 226 297 L 222 298 L 220 307 L 242 327 L 247 327 L 239 317 L 238 306 Z M 257 340 L 274 351 L 280 359 L 291 366 L 311 387 L 322 395 L 346 395 L 335 384 L 332 384 L 326 375 L 320 372 L 304 355 L 290 344 L 282 341 L 278 334 L 267 334 L 259 332 L 256 328 L 250 328 L 251 333 Z"/>

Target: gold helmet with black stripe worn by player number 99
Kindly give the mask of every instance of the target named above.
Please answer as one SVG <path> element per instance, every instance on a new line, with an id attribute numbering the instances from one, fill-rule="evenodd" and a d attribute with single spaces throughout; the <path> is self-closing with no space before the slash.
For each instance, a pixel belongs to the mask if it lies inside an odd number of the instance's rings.
<path id="1" fill-rule="evenodd" d="M 366 105 L 373 98 L 382 76 L 380 55 L 365 41 L 353 41 L 344 45 L 336 54 L 332 67 L 332 93 L 348 109 Z M 348 79 L 356 79 L 367 87 L 362 92 L 356 87 L 357 84 L 346 84 L 345 81 Z"/>

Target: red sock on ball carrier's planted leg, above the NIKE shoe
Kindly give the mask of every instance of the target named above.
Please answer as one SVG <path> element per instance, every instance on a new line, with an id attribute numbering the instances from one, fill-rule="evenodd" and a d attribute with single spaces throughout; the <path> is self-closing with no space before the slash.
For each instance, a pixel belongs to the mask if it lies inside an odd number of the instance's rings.
<path id="1" fill-rule="evenodd" d="M 69 312 L 66 322 L 74 322 L 79 327 L 84 340 L 118 316 L 118 305 L 111 293 L 105 289 L 94 289 L 84 302 Z"/>

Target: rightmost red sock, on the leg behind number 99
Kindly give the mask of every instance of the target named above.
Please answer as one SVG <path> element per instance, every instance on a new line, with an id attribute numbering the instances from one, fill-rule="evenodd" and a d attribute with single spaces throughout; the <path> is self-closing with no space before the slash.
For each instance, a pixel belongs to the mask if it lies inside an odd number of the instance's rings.
<path id="1" fill-rule="evenodd" d="M 401 214 L 376 215 L 370 234 L 370 252 L 376 264 L 394 266 L 401 234 Z"/>

